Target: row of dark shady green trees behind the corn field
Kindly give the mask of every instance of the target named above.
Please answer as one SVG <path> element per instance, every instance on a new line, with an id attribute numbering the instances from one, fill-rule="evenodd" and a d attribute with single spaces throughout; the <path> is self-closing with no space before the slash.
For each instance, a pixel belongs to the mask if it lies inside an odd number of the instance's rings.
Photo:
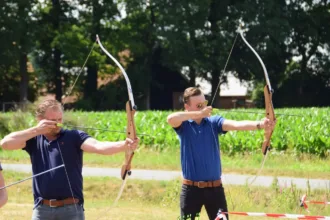
<path id="1" fill-rule="evenodd" d="M 46 93 L 63 101 L 81 72 L 70 94 L 76 108 L 119 109 L 126 84 L 95 43 L 98 34 L 127 70 L 142 109 L 162 106 L 150 104 L 162 102 L 154 91 L 179 87 L 164 77 L 189 86 L 204 79 L 214 95 L 228 73 L 252 81 L 262 106 L 261 66 L 235 41 L 244 24 L 268 69 L 275 106 L 330 104 L 328 0 L 7 0 L 0 10 L 0 102 L 33 102 Z"/>

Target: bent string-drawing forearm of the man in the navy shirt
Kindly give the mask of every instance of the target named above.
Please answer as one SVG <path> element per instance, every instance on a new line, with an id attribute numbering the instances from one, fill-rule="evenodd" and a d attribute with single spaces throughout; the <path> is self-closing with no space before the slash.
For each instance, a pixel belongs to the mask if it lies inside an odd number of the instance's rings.
<path id="1" fill-rule="evenodd" d="M 26 141 L 39 135 L 36 127 L 32 127 L 23 131 L 16 131 L 5 136 L 0 145 L 6 150 L 15 150 L 23 148 Z"/>

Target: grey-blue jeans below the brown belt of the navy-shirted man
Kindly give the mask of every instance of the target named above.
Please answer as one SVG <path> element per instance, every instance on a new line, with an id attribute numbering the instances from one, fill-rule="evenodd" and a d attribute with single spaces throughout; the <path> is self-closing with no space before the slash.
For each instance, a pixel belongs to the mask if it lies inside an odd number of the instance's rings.
<path id="1" fill-rule="evenodd" d="M 77 210 L 76 210 L 77 207 Z M 85 220 L 84 208 L 79 204 L 62 207 L 39 205 L 33 210 L 32 220 Z"/>

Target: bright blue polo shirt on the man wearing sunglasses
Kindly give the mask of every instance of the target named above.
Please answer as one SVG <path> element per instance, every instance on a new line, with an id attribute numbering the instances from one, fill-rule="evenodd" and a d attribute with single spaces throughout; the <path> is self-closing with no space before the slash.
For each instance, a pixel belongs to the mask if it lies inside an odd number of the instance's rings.
<path id="1" fill-rule="evenodd" d="M 221 162 L 218 134 L 224 118 L 203 118 L 198 125 L 193 120 L 184 121 L 174 128 L 180 139 L 181 167 L 183 177 L 192 181 L 214 181 L 221 177 Z"/>

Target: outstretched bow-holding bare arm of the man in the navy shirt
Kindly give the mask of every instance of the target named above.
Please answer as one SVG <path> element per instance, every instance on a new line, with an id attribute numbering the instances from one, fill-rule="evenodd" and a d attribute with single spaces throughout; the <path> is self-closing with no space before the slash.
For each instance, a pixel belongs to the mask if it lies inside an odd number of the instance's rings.
<path id="1" fill-rule="evenodd" d="M 133 141 L 128 138 L 125 141 L 117 142 L 98 141 L 94 138 L 88 138 L 81 145 L 81 149 L 89 153 L 111 155 L 119 152 L 124 152 L 126 150 L 134 151 L 137 148 L 138 142 L 139 139 Z"/>

